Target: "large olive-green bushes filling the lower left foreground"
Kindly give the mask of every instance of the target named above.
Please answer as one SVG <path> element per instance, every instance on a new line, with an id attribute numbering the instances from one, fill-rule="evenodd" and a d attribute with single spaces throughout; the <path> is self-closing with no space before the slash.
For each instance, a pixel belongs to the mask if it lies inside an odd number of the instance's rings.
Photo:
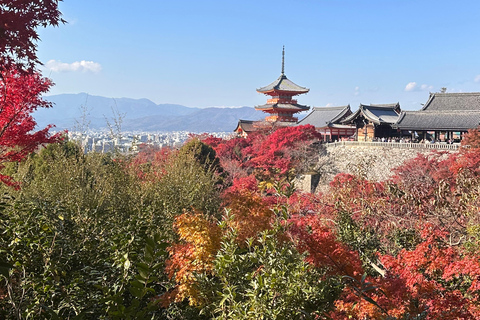
<path id="1" fill-rule="evenodd" d="M 10 170 L 22 189 L 6 189 L 1 212 L 0 256 L 13 265 L 3 280 L 5 318 L 99 318 L 110 307 L 105 288 L 121 293 L 125 305 L 147 305 L 147 295 L 125 289 L 136 274 L 130 266 L 148 265 L 146 239 L 166 231 L 160 208 L 142 204 L 123 161 L 84 155 L 66 142 Z M 156 269 L 164 259 L 156 256 Z"/>

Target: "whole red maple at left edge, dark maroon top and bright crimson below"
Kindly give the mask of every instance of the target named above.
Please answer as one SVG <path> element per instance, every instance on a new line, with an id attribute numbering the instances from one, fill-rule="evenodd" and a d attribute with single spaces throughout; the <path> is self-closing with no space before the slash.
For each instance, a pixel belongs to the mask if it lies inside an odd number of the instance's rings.
<path id="1" fill-rule="evenodd" d="M 0 4 L 0 169 L 20 161 L 38 146 L 58 140 L 50 127 L 34 132 L 32 113 L 50 107 L 41 98 L 51 81 L 35 71 L 37 28 L 64 22 L 57 0 L 7 0 Z M 13 184 L 10 177 L 0 180 Z"/>

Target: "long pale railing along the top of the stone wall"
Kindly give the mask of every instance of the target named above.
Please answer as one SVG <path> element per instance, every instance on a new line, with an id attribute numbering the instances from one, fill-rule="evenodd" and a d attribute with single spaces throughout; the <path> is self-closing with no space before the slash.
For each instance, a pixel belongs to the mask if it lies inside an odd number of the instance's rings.
<path id="1" fill-rule="evenodd" d="M 363 142 L 363 141 L 339 141 L 326 143 L 327 148 L 337 146 L 352 146 L 352 147 L 387 147 L 398 149 L 436 149 L 436 150 L 458 150 L 460 144 L 447 143 L 407 143 L 407 142 Z"/>

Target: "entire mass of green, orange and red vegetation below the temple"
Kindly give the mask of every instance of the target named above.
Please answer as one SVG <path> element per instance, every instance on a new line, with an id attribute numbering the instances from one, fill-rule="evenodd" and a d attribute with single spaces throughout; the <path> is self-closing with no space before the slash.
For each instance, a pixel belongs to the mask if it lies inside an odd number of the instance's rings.
<path id="1" fill-rule="evenodd" d="M 476 319 L 480 150 L 389 181 L 315 168 L 313 127 L 134 157 L 51 144 L 4 175 L 6 319 Z M 234 168 L 234 170 L 226 170 Z"/>

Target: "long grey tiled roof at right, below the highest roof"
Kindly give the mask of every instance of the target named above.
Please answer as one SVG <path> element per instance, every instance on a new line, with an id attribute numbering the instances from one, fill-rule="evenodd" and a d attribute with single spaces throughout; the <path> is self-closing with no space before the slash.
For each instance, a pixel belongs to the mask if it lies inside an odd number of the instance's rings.
<path id="1" fill-rule="evenodd" d="M 480 125 L 477 111 L 406 111 L 402 112 L 395 128 L 402 130 L 458 130 L 466 131 Z"/>

